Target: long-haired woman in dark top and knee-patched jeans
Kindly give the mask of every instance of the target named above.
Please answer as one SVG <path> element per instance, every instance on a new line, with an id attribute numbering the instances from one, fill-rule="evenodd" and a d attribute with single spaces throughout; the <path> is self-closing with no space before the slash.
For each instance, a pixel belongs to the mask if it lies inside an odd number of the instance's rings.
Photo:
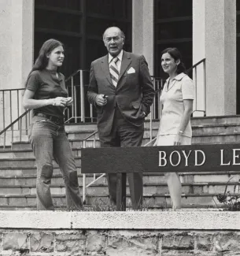
<path id="1" fill-rule="evenodd" d="M 29 138 L 37 164 L 38 210 L 54 210 L 50 194 L 53 158 L 65 181 L 68 209 L 82 208 L 76 164 L 64 128 L 64 108 L 72 105 L 72 98 L 65 88 L 65 76 L 57 72 L 64 58 L 61 42 L 50 39 L 43 43 L 24 93 L 24 108 L 33 109 Z"/>

